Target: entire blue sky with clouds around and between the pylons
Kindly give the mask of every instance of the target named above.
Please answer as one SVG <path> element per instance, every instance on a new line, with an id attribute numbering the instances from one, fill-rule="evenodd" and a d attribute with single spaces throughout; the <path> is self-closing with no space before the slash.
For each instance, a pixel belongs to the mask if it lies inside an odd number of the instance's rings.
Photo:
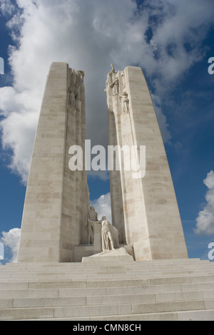
<path id="1" fill-rule="evenodd" d="M 213 12 L 210 0 L 1 1 L 0 238 L 7 261 L 17 251 L 52 61 L 85 71 L 87 138 L 105 146 L 103 90 L 110 64 L 116 71 L 141 66 L 161 127 L 189 257 L 208 259 L 208 244 L 214 242 L 214 75 L 208 73 L 208 59 L 214 57 Z M 108 212 L 108 173 L 89 175 L 88 186 L 96 210 Z"/>

